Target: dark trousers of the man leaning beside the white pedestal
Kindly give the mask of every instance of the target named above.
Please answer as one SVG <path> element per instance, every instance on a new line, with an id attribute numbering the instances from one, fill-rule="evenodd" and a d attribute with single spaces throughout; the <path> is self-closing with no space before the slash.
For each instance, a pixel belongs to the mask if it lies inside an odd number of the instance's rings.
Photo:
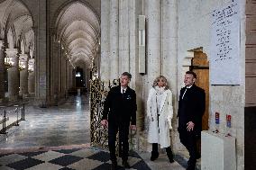
<path id="1" fill-rule="evenodd" d="M 178 130 L 180 142 L 187 148 L 189 159 L 187 169 L 195 169 L 197 163 L 197 135 L 195 131 Z"/>

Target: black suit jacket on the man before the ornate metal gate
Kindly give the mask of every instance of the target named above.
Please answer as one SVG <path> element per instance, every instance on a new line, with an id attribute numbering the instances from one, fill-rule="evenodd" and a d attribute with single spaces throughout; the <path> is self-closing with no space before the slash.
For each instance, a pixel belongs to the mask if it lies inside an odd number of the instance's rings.
<path id="1" fill-rule="evenodd" d="M 128 86 L 125 93 L 121 94 L 121 86 L 114 86 L 105 98 L 102 120 L 118 123 L 132 121 L 132 125 L 136 125 L 136 111 L 135 91 Z"/>

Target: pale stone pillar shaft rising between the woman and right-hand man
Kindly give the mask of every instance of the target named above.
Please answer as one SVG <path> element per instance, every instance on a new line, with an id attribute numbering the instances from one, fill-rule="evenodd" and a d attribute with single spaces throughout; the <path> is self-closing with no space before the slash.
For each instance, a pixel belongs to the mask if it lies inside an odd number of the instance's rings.
<path id="1" fill-rule="evenodd" d="M 166 76 L 173 97 L 173 122 L 178 122 L 178 82 L 177 82 L 177 64 L 178 64 L 178 1 L 162 1 L 162 75 Z M 177 123 L 173 123 L 171 130 L 171 139 L 173 149 L 180 148 L 178 138 Z"/>

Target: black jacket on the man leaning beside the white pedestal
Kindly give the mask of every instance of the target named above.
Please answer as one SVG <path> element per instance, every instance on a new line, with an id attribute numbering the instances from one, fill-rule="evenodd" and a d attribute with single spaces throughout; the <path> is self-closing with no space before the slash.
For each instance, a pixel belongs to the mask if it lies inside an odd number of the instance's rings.
<path id="1" fill-rule="evenodd" d="M 202 117 L 206 110 L 206 93 L 204 89 L 192 85 L 187 88 L 187 92 L 182 99 L 186 88 L 186 86 L 181 88 L 178 100 L 178 129 L 186 130 L 187 122 L 192 121 L 195 123 L 195 132 L 200 134 Z"/>

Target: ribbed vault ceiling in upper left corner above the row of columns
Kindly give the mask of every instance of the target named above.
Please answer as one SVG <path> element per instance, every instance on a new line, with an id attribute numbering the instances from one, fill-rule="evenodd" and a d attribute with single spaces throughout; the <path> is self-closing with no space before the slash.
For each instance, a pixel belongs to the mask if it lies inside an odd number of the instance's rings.
<path id="1" fill-rule="evenodd" d="M 8 47 L 17 48 L 22 41 L 22 51 L 29 53 L 33 49 L 34 32 L 32 31 L 32 16 L 28 9 L 18 0 L 6 0 L 0 4 L 0 38 L 5 38 L 8 33 Z M 12 43 L 11 43 L 12 42 Z"/>

